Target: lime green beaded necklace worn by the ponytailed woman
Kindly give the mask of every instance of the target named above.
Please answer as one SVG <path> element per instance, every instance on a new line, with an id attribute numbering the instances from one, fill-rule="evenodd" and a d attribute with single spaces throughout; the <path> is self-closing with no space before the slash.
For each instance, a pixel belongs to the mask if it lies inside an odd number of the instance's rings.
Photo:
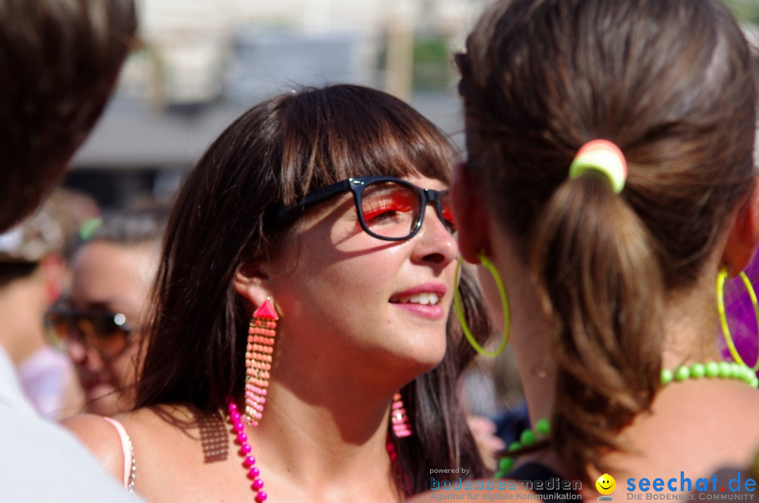
<path id="1" fill-rule="evenodd" d="M 688 379 L 701 379 L 707 377 L 710 379 L 735 379 L 741 380 L 748 384 L 752 388 L 759 387 L 759 378 L 757 378 L 754 370 L 746 367 L 745 365 L 738 363 L 731 363 L 729 361 L 710 361 L 707 364 L 694 363 L 690 366 L 682 365 L 675 370 L 662 369 L 660 376 L 660 382 L 663 385 L 672 383 L 672 381 L 682 382 Z M 524 430 L 519 436 L 518 442 L 512 442 L 509 445 L 509 452 L 516 451 L 523 447 L 528 447 L 537 442 L 537 436 L 540 435 L 543 439 L 549 436 L 551 433 L 551 423 L 549 420 L 543 417 L 535 422 L 535 431 Z M 496 471 L 495 478 L 502 479 L 509 473 L 514 467 L 514 458 L 505 456 L 498 461 L 498 470 Z"/>

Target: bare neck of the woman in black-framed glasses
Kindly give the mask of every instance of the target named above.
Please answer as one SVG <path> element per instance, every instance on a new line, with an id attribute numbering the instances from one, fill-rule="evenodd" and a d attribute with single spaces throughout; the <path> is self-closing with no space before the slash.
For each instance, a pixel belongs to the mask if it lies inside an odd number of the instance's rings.
<path id="1" fill-rule="evenodd" d="M 309 491 L 355 490 L 351 480 L 376 492 L 397 491 L 386 450 L 392 394 L 355 384 L 326 386 L 320 379 L 320 386 L 293 389 L 272 380 L 263 420 L 247 428 L 267 479 Z"/>

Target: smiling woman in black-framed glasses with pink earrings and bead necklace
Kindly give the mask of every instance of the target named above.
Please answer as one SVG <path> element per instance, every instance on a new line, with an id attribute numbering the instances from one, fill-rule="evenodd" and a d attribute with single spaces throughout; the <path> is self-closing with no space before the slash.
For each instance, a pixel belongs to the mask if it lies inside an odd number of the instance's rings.
<path id="1" fill-rule="evenodd" d="M 150 501 L 402 501 L 430 470 L 483 475 L 456 395 L 474 349 L 449 323 L 455 158 L 374 89 L 251 108 L 175 203 L 129 443 L 101 417 L 67 425 Z M 483 341 L 481 295 L 459 288 Z"/>

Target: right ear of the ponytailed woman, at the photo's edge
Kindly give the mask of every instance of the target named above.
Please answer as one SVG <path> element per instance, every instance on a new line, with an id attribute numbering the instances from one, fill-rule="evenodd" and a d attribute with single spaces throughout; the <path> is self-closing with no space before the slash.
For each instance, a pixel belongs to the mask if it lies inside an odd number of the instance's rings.
<path id="1" fill-rule="evenodd" d="M 759 240 L 759 178 L 754 177 L 754 188 L 748 200 L 732 217 L 722 261 L 731 276 L 744 270 L 757 248 Z"/>

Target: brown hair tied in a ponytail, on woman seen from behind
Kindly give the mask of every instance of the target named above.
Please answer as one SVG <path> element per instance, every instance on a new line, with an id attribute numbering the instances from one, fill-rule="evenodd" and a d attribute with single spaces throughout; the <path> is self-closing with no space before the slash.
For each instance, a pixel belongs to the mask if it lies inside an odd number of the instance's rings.
<path id="1" fill-rule="evenodd" d="M 748 45 L 717 0 L 511 0 L 457 62 L 468 166 L 556 323 L 553 448 L 603 473 L 657 392 L 666 296 L 694 286 L 753 186 Z M 619 195 L 568 179 L 592 139 L 624 152 Z"/>

